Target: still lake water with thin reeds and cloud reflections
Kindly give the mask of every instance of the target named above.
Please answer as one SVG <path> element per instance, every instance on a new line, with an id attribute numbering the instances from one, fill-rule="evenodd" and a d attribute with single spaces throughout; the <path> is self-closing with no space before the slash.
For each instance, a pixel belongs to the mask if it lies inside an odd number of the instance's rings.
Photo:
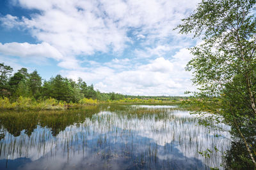
<path id="1" fill-rule="evenodd" d="M 222 169 L 230 148 L 227 131 L 175 106 L 48 112 L 0 114 L 0 169 Z"/>

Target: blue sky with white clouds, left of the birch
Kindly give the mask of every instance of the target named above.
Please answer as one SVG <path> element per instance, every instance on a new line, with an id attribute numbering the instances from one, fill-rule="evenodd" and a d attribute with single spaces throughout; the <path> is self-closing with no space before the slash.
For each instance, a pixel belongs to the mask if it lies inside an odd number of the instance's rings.
<path id="1" fill-rule="evenodd" d="M 184 96 L 198 40 L 173 31 L 198 0 L 0 0 L 0 62 L 100 92 Z"/>

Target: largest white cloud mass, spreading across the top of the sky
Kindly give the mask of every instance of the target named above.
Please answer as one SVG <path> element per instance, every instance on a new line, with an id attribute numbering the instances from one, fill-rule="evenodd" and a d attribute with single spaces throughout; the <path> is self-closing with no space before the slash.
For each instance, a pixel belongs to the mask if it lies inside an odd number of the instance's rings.
<path id="1" fill-rule="evenodd" d="M 131 42 L 127 32 L 132 29 L 136 29 L 137 37 L 144 41 L 168 39 L 173 35 L 173 27 L 197 2 L 19 0 L 23 8 L 42 12 L 21 20 L 6 15 L 1 21 L 9 27 L 23 25 L 38 40 L 62 53 L 92 55 L 111 49 L 122 52 L 125 44 Z"/>

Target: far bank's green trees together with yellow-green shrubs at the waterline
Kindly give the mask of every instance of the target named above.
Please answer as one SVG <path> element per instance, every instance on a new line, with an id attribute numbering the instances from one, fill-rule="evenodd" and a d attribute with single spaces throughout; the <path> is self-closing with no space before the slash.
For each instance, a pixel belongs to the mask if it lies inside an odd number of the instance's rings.
<path id="1" fill-rule="evenodd" d="M 5 82 L 5 95 L 0 98 L 0 109 L 14 110 L 65 110 L 88 105 L 107 103 L 177 103 L 186 97 L 165 96 L 124 96 L 115 92 L 101 93 L 93 85 L 87 85 L 82 78 L 77 83 L 72 79 L 64 78 L 60 74 L 45 80 L 42 84 L 40 74 L 35 70 L 28 73 L 28 69 L 21 68 L 13 76 L 10 66 L 5 68 L 3 79 Z M 2 70 L 4 70 L 2 68 Z M 9 77 L 10 76 L 10 77 Z M 9 93 L 9 95 L 8 95 Z M 6 98 L 9 97 L 9 98 Z"/>

